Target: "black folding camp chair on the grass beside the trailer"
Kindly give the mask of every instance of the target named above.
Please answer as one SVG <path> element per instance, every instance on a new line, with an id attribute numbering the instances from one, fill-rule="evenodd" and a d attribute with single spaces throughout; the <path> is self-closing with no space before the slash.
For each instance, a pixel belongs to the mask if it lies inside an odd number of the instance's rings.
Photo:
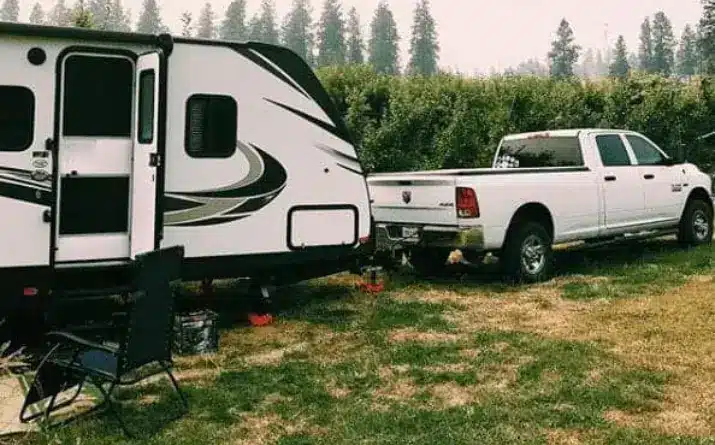
<path id="1" fill-rule="evenodd" d="M 174 299 L 171 283 L 179 279 L 183 256 L 181 246 L 137 256 L 129 292 L 132 303 L 118 345 L 97 343 L 68 332 L 47 334 L 53 346 L 37 368 L 20 412 L 21 422 L 43 414 L 47 421 L 51 412 L 73 403 L 82 387 L 91 383 L 102 393 L 103 400 L 90 411 L 106 406 L 125 434 L 132 436 L 112 404 L 112 391 L 117 386 L 132 385 L 161 372 L 166 372 L 184 408 L 188 409 L 186 397 L 170 370 Z M 129 374 L 149 364 L 158 364 L 160 369 L 127 379 Z M 69 400 L 56 403 L 58 395 L 74 387 L 77 391 Z M 31 406 L 47 399 L 50 400 L 43 411 L 27 415 Z"/>

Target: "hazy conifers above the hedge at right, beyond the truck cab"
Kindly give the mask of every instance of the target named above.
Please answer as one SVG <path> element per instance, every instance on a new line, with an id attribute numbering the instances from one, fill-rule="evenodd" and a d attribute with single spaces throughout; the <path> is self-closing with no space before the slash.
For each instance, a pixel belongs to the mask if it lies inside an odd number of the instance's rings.
<path id="1" fill-rule="evenodd" d="M 700 20 L 696 26 L 687 24 L 679 38 L 676 38 L 672 22 L 663 11 L 644 18 L 635 52 L 629 51 L 623 35 L 618 35 L 607 60 L 600 62 L 602 74 L 618 78 L 625 78 L 633 71 L 666 77 L 715 74 L 715 0 L 702 1 Z M 562 19 L 548 53 L 548 74 L 556 78 L 577 75 L 582 50 L 576 43 L 568 20 Z M 540 69 L 532 74 L 546 73 Z"/>

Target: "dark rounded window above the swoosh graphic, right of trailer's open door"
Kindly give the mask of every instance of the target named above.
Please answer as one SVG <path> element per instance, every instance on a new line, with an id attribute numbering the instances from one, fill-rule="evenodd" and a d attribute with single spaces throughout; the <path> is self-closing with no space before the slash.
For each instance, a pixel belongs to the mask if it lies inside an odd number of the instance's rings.
<path id="1" fill-rule="evenodd" d="M 197 94 L 186 103 L 186 153 L 228 158 L 236 151 L 238 106 L 230 96 Z"/>

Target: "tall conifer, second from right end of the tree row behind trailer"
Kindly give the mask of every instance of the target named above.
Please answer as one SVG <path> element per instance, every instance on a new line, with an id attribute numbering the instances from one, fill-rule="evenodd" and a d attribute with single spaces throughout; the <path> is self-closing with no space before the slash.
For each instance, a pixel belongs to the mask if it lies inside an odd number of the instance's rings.
<path id="1" fill-rule="evenodd" d="M 399 74 L 399 41 L 397 24 L 385 0 L 380 0 L 370 24 L 368 62 L 378 73 Z"/>

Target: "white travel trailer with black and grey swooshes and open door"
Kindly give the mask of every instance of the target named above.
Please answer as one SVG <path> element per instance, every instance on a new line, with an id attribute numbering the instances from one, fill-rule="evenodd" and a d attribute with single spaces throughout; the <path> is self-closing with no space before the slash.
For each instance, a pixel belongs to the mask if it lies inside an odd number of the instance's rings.
<path id="1" fill-rule="evenodd" d="M 286 48 L 0 23 L 0 66 L 5 302 L 172 245 L 186 280 L 301 281 L 369 240 L 348 131 Z"/>

